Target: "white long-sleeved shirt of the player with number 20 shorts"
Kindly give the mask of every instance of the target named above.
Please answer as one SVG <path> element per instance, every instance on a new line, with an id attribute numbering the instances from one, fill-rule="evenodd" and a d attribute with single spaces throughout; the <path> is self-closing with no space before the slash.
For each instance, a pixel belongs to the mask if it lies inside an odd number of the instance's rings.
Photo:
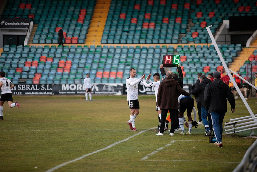
<path id="1" fill-rule="evenodd" d="M 144 79 L 143 79 L 144 81 Z M 126 79 L 126 86 L 127 86 L 127 101 L 129 100 L 137 100 L 138 99 L 138 87 L 137 84 L 144 85 L 141 82 L 141 78 L 130 78 Z"/>

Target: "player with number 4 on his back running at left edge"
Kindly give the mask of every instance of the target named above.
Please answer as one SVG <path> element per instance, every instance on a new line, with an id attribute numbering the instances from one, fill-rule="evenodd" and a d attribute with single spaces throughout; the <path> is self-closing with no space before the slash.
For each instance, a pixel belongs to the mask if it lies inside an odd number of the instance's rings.
<path id="1" fill-rule="evenodd" d="M 1 97 L 0 97 L 0 119 L 3 118 L 3 105 L 4 102 L 7 101 L 10 108 L 17 106 L 20 107 L 19 103 L 16 101 L 13 103 L 12 91 L 11 89 L 14 87 L 13 83 L 10 79 L 5 78 L 5 72 L 0 72 L 0 88 L 1 88 Z"/>

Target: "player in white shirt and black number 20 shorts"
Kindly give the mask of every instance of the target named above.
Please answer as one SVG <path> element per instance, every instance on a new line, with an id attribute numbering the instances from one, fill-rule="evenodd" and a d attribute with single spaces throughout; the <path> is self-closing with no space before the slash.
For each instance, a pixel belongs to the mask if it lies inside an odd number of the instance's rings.
<path id="1" fill-rule="evenodd" d="M 145 74 L 137 79 L 136 70 L 134 68 L 130 68 L 130 77 L 126 79 L 126 86 L 127 86 L 127 101 L 128 106 L 130 108 L 130 120 L 127 121 L 127 124 L 130 126 L 130 129 L 133 131 L 137 131 L 135 128 L 135 118 L 139 114 L 139 101 L 138 101 L 138 87 L 137 84 L 144 85 L 141 82 L 141 79 L 145 78 Z"/>

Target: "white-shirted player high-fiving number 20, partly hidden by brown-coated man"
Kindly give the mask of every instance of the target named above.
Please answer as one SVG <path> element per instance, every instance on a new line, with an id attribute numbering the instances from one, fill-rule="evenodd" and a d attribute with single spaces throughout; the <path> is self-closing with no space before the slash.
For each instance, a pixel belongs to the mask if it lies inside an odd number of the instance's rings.
<path id="1" fill-rule="evenodd" d="M 154 89 L 155 99 L 156 99 L 156 111 L 158 113 L 158 119 L 159 119 L 159 125 L 158 125 L 158 128 L 155 131 L 160 131 L 161 109 L 160 109 L 160 107 L 157 106 L 157 94 L 158 94 L 158 89 L 159 89 L 159 85 L 160 85 L 160 82 L 161 82 L 160 81 L 160 74 L 159 73 L 154 73 L 153 74 L 154 82 L 152 82 L 150 80 L 151 75 L 152 74 L 148 75 L 143 83 L 144 83 L 145 87 L 153 87 L 153 89 Z M 147 83 L 147 81 L 149 81 L 149 83 Z M 164 131 L 168 130 L 168 124 L 169 124 L 169 121 L 166 121 L 166 128 L 164 128 Z"/>

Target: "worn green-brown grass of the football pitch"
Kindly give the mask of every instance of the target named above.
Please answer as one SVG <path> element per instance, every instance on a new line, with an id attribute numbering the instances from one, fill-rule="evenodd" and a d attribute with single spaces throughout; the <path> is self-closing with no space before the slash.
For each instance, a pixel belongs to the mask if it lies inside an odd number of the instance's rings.
<path id="1" fill-rule="evenodd" d="M 166 131 L 156 136 L 152 95 L 139 96 L 137 132 L 126 124 L 125 95 L 93 95 L 92 102 L 84 95 L 13 99 L 20 108 L 5 102 L 0 120 L 0 171 L 233 171 L 257 135 L 256 130 L 223 135 L 223 149 L 209 143 L 203 125 L 192 135 Z M 247 100 L 254 114 L 255 101 Z M 228 105 L 224 122 L 249 115 L 242 100 L 236 100 L 235 112 Z"/>

